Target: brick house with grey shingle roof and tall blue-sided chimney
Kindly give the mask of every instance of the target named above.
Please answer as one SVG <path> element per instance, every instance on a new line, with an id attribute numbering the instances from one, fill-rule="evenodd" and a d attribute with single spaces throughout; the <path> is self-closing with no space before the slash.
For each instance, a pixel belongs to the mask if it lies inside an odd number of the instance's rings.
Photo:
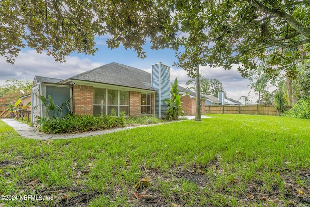
<path id="1" fill-rule="evenodd" d="M 56 105 L 70 99 L 75 114 L 125 115 L 153 114 L 166 116 L 170 99 L 170 67 L 152 65 L 152 74 L 118 63 L 106 64 L 67 79 L 35 76 L 32 94 L 32 120 L 45 116 L 46 110 L 36 95 L 48 95 Z M 39 107 L 35 107 L 39 106 Z M 63 111 L 63 115 L 69 111 Z"/>

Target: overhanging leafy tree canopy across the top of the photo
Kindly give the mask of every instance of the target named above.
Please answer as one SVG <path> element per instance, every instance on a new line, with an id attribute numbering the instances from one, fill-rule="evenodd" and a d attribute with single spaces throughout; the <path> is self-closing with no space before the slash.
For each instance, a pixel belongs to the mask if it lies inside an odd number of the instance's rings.
<path id="1" fill-rule="evenodd" d="M 26 45 L 57 61 L 94 54 L 95 36 L 105 34 L 110 48 L 134 48 L 142 58 L 147 38 L 153 49 L 182 47 L 177 65 L 190 74 L 241 63 L 247 76 L 268 55 L 267 72 L 294 76 L 309 58 L 309 0 L 1 0 L 0 14 L 0 54 L 10 63 Z"/>

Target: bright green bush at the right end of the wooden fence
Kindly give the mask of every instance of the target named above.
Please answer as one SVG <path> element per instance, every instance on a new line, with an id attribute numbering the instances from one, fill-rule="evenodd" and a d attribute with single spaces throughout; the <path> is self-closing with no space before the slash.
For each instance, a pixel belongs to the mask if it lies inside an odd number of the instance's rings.
<path id="1" fill-rule="evenodd" d="M 299 100 L 298 103 L 293 104 L 292 108 L 285 112 L 286 116 L 310 119 L 310 98 Z"/>

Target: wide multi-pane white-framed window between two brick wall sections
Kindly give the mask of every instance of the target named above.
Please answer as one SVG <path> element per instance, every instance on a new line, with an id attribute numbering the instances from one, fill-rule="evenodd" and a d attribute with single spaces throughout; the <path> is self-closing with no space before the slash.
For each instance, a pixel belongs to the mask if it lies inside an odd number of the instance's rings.
<path id="1" fill-rule="evenodd" d="M 93 88 L 93 115 L 129 114 L 129 92 L 105 88 Z"/>

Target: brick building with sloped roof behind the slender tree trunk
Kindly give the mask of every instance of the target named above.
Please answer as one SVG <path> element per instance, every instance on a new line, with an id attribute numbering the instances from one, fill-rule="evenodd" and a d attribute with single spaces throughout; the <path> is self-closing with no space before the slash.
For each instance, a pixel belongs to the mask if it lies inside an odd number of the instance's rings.
<path id="1" fill-rule="evenodd" d="M 188 95 L 183 96 L 181 98 L 181 107 L 184 110 L 185 115 L 194 116 L 196 114 L 196 93 L 188 90 L 187 88 L 183 88 L 182 86 L 178 86 L 178 89 L 181 91 L 180 94 Z M 205 114 L 205 101 L 207 97 L 203 94 L 200 94 L 200 112 L 201 114 Z"/>

